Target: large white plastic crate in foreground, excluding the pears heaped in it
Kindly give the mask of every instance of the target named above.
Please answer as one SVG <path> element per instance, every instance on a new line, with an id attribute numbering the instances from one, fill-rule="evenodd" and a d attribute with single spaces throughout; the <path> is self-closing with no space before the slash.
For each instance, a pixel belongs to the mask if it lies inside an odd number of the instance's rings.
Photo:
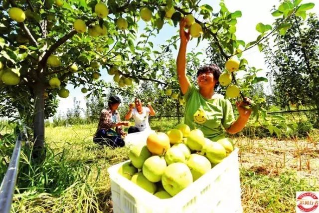
<path id="1" fill-rule="evenodd" d="M 242 213 L 238 149 L 173 198 L 159 199 L 108 169 L 114 213 Z"/>

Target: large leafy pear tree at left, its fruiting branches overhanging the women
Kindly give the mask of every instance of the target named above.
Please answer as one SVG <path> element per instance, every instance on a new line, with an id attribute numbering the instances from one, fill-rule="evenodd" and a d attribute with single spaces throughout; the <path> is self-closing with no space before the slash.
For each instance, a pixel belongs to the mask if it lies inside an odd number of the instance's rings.
<path id="1" fill-rule="evenodd" d="M 43 148 L 44 120 L 54 113 L 56 97 L 69 95 L 67 85 L 90 96 L 109 87 L 125 94 L 141 81 L 152 81 L 178 100 L 176 77 L 164 77 L 167 70 L 174 70 L 161 59 L 164 52 L 177 48 L 178 32 L 160 48 L 151 41 L 164 24 L 176 31 L 185 17 L 192 39 L 198 43 L 213 40 L 225 61 L 235 61 L 230 67 L 235 64 L 236 70 L 246 70 L 242 52 L 256 45 L 263 48 L 264 39 L 274 31 L 285 33 L 290 27 L 285 19 L 292 14 L 307 15 L 313 3 L 285 1 L 273 11 L 273 15 L 283 16 L 283 21 L 275 26 L 257 24 L 260 35 L 247 44 L 235 35 L 241 11 L 230 12 L 223 1 L 220 6 L 214 11 L 200 0 L 2 0 L 1 114 L 8 115 L 6 106 L 14 107 L 33 130 L 34 146 Z M 146 24 L 142 33 L 139 21 Z M 105 70 L 113 76 L 112 85 L 100 79 Z M 237 85 L 235 70 L 229 71 L 229 86 L 241 89 L 243 97 L 245 88 Z M 247 80 L 247 88 L 253 81 Z M 237 94 L 238 90 L 233 90 Z"/>

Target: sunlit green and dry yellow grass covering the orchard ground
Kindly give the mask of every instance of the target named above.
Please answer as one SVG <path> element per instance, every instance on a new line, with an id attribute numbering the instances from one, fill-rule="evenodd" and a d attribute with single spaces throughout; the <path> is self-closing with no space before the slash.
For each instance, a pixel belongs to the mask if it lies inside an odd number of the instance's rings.
<path id="1" fill-rule="evenodd" d="M 153 120 L 151 125 L 165 132 L 176 123 L 176 120 Z M 94 144 L 95 130 L 96 124 L 47 127 L 45 162 L 32 165 L 28 152 L 21 156 L 19 189 L 13 198 L 12 212 L 111 213 L 107 169 L 127 160 L 128 150 Z M 314 133 L 312 141 L 297 142 L 233 138 L 240 148 L 245 213 L 295 212 L 297 191 L 319 191 L 319 144 L 318 140 L 314 142 L 318 132 Z M 307 161 L 311 162 L 310 166 Z"/>

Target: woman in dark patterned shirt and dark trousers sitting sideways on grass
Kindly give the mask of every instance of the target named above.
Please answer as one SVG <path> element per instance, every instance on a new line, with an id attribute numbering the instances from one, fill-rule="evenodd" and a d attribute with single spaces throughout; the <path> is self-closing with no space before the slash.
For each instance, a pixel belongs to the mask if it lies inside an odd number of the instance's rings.
<path id="1" fill-rule="evenodd" d="M 102 110 L 97 131 L 93 138 L 95 143 L 112 147 L 124 147 L 122 136 L 127 135 L 121 126 L 129 126 L 129 122 L 121 122 L 117 111 L 121 103 L 118 96 L 111 96 L 108 100 L 108 108 Z M 115 128 L 115 131 L 113 130 Z"/>

